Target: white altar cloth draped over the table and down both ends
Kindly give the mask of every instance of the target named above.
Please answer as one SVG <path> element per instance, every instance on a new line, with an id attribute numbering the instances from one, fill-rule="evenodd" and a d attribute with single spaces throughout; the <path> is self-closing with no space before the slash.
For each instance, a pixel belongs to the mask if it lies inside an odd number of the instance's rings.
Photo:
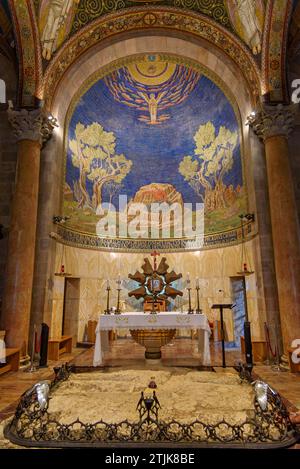
<path id="1" fill-rule="evenodd" d="M 96 327 L 94 366 L 103 364 L 104 350 L 108 337 L 105 331 L 114 329 L 197 329 L 198 350 L 202 365 L 210 365 L 209 336 L 211 330 L 205 314 L 161 312 L 158 314 L 130 312 L 122 314 L 102 314 Z"/>

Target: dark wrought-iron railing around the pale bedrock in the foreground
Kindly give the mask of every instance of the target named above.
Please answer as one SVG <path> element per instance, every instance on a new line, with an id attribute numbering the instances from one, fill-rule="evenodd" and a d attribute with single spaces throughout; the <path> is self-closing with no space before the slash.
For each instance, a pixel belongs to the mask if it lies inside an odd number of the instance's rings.
<path id="1" fill-rule="evenodd" d="M 50 384 L 50 396 L 55 388 L 67 380 L 73 367 L 56 368 Z M 251 374 L 242 367 L 241 380 L 251 381 Z M 271 392 L 272 391 L 272 392 Z M 49 403 L 49 400 L 48 400 Z M 287 447 L 298 440 L 297 428 L 289 419 L 288 411 L 279 394 L 268 391 L 268 405 L 262 410 L 257 398 L 253 417 L 232 424 L 221 420 L 215 424 L 194 420 L 183 423 L 159 419 L 160 404 L 155 392 L 143 393 L 137 405 L 139 420 L 107 423 L 99 420 L 85 423 L 77 419 L 65 424 L 48 412 L 48 404 L 41 409 L 36 393 L 21 396 L 12 421 L 4 434 L 11 442 L 33 447 L 103 447 L 103 446 L 199 446 L 199 447 Z"/>

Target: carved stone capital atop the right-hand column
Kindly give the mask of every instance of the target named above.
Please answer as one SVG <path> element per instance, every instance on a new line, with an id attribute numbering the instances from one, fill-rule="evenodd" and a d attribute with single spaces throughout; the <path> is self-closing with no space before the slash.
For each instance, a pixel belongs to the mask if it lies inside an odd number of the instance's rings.
<path id="1" fill-rule="evenodd" d="M 288 137 L 294 128 L 296 108 L 295 104 L 264 105 L 258 112 L 250 114 L 247 124 L 263 141 L 278 135 Z"/>

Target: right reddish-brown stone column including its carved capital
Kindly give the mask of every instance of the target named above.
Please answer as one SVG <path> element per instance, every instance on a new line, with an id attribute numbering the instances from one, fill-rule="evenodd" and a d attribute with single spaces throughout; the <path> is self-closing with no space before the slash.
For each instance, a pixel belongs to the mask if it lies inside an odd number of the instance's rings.
<path id="1" fill-rule="evenodd" d="M 285 353 L 294 339 L 300 339 L 300 232 L 288 147 L 288 136 L 294 123 L 293 111 L 293 106 L 265 106 L 249 118 L 249 124 L 265 144 Z"/>

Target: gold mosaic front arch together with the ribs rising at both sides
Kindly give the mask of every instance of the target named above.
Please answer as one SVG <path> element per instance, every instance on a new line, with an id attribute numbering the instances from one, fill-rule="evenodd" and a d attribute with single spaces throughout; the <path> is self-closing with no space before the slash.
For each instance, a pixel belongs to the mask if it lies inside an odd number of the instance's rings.
<path id="1" fill-rule="evenodd" d="M 181 0 L 180 0 L 180 6 Z M 20 105 L 34 105 L 34 97 L 45 98 L 51 106 L 51 91 L 76 60 L 77 55 L 95 43 L 126 31 L 151 30 L 155 28 L 182 31 L 202 37 L 224 49 L 241 68 L 244 76 L 249 75 L 249 83 L 254 95 L 268 94 L 270 101 L 288 100 L 286 88 L 286 47 L 289 20 L 293 11 L 292 0 L 266 0 L 266 20 L 262 50 L 262 63 L 259 69 L 250 50 L 237 36 L 208 16 L 174 7 L 157 7 L 151 3 L 147 7 L 125 8 L 118 13 L 104 15 L 89 23 L 72 36 L 52 59 L 43 79 L 40 40 L 37 29 L 37 2 L 9 2 L 14 23 L 15 39 L 19 61 Z M 249 73 L 250 74 L 249 74 Z M 50 82 L 47 83 L 48 78 Z M 56 83 L 57 80 L 57 83 Z"/>

